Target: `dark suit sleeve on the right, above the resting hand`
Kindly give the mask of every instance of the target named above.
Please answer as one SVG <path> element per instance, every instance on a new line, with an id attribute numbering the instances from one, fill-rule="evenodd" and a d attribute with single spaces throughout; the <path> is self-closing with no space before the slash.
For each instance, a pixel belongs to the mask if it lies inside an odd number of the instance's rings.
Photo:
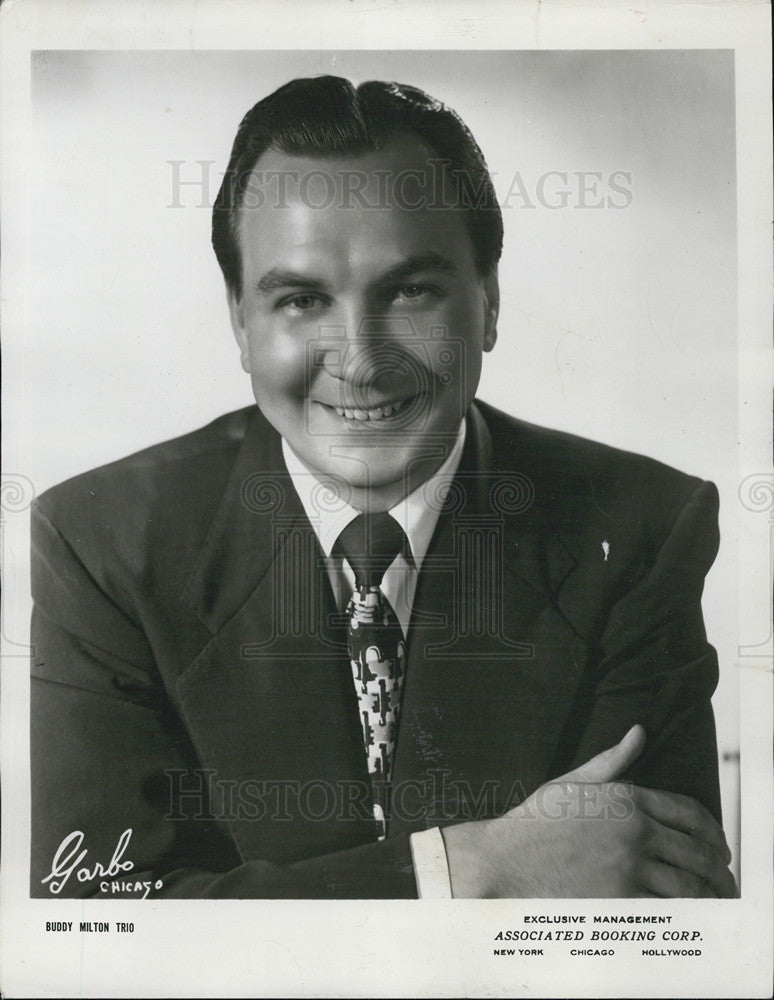
<path id="1" fill-rule="evenodd" d="M 701 611 L 704 576 L 718 548 L 718 496 L 702 483 L 679 511 L 637 582 L 614 604 L 571 723 L 576 767 L 635 723 L 647 743 L 629 777 L 689 795 L 720 820 L 715 650 Z"/>

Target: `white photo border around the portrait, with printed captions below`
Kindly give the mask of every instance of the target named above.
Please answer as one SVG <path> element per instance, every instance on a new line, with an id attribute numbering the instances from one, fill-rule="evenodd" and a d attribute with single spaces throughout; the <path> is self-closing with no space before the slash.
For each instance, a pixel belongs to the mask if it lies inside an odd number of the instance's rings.
<path id="1" fill-rule="evenodd" d="M 3 260 L 2 989 L 33 996 L 767 996 L 772 977 L 774 475 L 770 22 L 763 2 L 715 4 L 355 0 L 17 0 L 0 14 Z M 738 239 L 738 657 L 742 897 L 733 901 L 68 901 L 29 898 L 29 620 L 25 217 L 32 192 L 31 54 L 43 50 L 733 49 Z M 443 95 L 439 95 L 443 96 Z M 246 101 L 249 100 L 249 96 Z M 486 150 L 485 150 L 486 152 Z M 149 442 L 151 443 L 151 442 Z M 95 463 L 96 464 L 96 463 Z M 762 640 L 762 637 L 767 638 Z M 726 665 L 726 669 L 730 669 Z M 107 915 L 107 909 L 110 914 Z M 668 913 L 702 955 L 495 957 L 525 915 Z M 122 920 L 132 934 L 46 932 Z"/>

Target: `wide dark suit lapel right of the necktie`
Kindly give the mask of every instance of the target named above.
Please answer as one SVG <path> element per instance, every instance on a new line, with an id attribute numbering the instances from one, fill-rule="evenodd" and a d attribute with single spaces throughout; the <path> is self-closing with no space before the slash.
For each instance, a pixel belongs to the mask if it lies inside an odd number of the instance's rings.
<path id="1" fill-rule="evenodd" d="M 496 815 L 545 781 L 585 662 L 554 602 L 575 561 L 532 479 L 491 455 L 474 407 L 417 588 L 393 833 Z"/>

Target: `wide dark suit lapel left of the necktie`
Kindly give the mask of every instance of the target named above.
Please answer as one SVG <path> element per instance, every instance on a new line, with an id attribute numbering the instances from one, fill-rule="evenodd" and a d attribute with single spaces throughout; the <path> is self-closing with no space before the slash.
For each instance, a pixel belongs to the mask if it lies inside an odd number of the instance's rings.
<path id="1" fill-rule="evenodd" d="M 273 431 L 248 435 L 185 599 L 213 638 L 177 694 L 242 856 L 283 862 L 370 836 L 343 632 Z"/>

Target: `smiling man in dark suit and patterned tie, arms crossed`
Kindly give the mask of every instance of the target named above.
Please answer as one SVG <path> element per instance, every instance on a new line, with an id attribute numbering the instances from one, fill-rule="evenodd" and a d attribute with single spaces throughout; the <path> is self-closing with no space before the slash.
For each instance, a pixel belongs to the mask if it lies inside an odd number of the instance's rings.
<path id="1" fill-rule="evenodd" d="M 33 894 L 733 895 L 716 491 L 475 399 L 464 124 L 293 81 L 213 244 L 257 405 L 35 511 Z"/>

